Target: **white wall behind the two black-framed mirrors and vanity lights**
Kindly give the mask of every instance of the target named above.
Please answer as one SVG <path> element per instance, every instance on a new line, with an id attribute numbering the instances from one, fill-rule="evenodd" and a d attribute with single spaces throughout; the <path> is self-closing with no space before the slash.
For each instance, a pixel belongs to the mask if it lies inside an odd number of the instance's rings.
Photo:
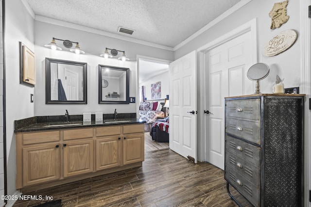
<path id="1" fill-rule="evenodd" d="M 80 48 L 86 52 L 84 55 L 76 55 L 63 49 L 53 51 L 45 48 L 52 37 L 58 39 L 69 39 L 79 42 Z M 61 45 L 61 41 L 56 41 Z M 130 61 L 122 62 L 116 58 L 104 59 L 100 54 L 104 53 L 104 48 L 116 48 L 125 50 Z M 70 29 L 68 27 L 57 26 L 50 23 L 35 21 L 35 55 L 36 55 L 36 86 L 35 86 L 35 116 L 40 115 L 62 115 L 65 109 L 69 114 L 82 114 L 83 112 L 103 112 L 113 113 L 114 109 L 118 113 L 135 113 L 136 104 L 98 104 L 98 64 L 128 67 L 130 68 L 130 96 L 137 97 L 137 55 L 146 55 L 165 60 L 173 60 L 173 52 L 148 47 L 136 43 L 117 40 L 99 34 Z M 56 58 L 62 60 L 78 61 L 87 63 L 87 105 L 51 105 L 45 104 L 45 58 Z"/>

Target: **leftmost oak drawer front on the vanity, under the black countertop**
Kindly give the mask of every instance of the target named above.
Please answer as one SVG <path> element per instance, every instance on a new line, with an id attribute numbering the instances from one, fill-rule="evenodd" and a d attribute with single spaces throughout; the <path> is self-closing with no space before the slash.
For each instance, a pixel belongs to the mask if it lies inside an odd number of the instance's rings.
<path id="1" fill-rule="evenodd" d="M 33 132 L 23 134 L 23 144 L 47 143 L 60 140 L 59 131 Z"/>

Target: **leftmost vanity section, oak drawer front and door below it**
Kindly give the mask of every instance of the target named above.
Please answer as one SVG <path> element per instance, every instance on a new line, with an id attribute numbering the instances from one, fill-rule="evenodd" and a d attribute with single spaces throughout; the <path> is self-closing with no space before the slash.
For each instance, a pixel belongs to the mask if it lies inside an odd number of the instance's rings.
<path id="1" fill-rule="evenodd" d="M 60 178 L 60 132 L 17 134 L 17 188 Z"/>

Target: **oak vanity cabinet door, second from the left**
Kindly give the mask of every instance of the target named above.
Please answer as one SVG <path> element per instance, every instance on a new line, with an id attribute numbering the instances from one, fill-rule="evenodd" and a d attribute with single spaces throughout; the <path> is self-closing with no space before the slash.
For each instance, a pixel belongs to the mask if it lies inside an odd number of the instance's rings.
<path id="1" fill-rule="evenodd" d="M 64 177 L 93 172 L 93 140 L 64 143 Z"/>

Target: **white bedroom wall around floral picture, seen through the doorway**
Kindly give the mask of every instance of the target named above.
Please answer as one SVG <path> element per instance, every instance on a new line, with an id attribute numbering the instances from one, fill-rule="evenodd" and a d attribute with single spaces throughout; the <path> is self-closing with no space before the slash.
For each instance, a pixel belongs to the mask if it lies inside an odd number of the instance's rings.
<path id="1" fill-rule="evenodd" d="M 151 99 L 151 84 L 155 82 L 161 82 L 161 97 L 160 98 L 166 98 L 166 95 L 169 95 L 169 71 L 161 73 L 161 74 L 155 74 L 154 77 L 145 80 L 143 82 L 139 83 L 139 88 L 141 86 L 145 86 L 145 97 L 147 100 Z M 138 96 L 139 100 L 139 96 Z"/>

